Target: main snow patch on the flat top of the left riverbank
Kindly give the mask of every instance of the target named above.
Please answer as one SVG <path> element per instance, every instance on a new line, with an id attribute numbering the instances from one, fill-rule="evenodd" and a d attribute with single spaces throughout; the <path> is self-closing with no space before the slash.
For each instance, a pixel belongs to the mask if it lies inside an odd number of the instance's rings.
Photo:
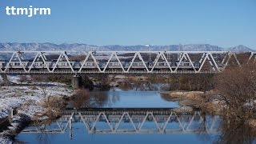
<path id="1" fill-rule="evenodd" d="M 24 103 L 28 103 L 28 106 L 21 112 L 32 116 L 42 110 L 45 97 L 69 97 L 72 94 L 72 90 L 60 86 L 2 86 L 0 90 L 0 118 L 6 118 L 11 108 L 18 108 Z"/>

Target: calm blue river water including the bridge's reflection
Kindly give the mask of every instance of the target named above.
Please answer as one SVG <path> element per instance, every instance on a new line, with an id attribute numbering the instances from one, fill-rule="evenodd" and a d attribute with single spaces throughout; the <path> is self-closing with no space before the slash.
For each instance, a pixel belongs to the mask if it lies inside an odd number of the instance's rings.
<path id="1" fill-rule="evenodd" d="M 170 108 L 179 107 L 178 102 L 166 100 L 157 91 L 91 92 L 90 98 L 77 101 L 70 102 L 66 106 L 65 114 L 57 122 L 50 122 L 43 126 L 27 126 L 22 133 L 18 134 L 16 142 L 33 144 L 225 143 L 230 138 L 225 138 L 226 134 L 220 129 L 221 120 L 218 116 L 203 114 L 202 111 L 172 113 Z M 73 110 L 74 106 L 78 109 Z M 79 115 L 85 115 L 82 112 L 86 106 L 114 109 L 108 109 L 109 111 L 92 109 L 90 114 L 87 114 L 90 118 L 86 119 Z M 154 111 L 148 113 L 152 111 L 151 109 Z M 126 113 L 129 110 L 130 112 Z M 71 122 L 72 114 L 74 115 Z M 84 118 L 83 121 L 82 118 Z M 95 123 L 95 121 L 98 122 Z M 240 142 L 243 143 L 243 141 Z"/>

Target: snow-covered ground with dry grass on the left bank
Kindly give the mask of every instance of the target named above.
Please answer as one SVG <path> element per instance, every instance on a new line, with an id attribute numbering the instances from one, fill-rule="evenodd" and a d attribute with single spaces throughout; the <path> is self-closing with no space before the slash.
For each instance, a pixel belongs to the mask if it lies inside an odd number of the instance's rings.
<path id="1" fill-rule="evenodd" d="M 10 82 L 20 83 L 18 76 L 8 77 Z M 0 78 L 0 82 L 2 78 Z M 50 84 L 56 86 L 0 86 L 0 118 L 10 115 L 11 109 L 17 109 L 18 114 L 26 114 L 32 118 L 34 114 L 43 111 L 42 104 L 48 96 L 69 97 L 73 90 L 58 82 L 33 82 L 33 84 Z M 11 123 L 10 129 L 15 129 L 21 118 L 14 116 L 15 121 Z M 16 122 L 16 123 L 15 123 Z M 5 132 L 0 133 L 0 143 L 10 143 L 4 137 Z"/>

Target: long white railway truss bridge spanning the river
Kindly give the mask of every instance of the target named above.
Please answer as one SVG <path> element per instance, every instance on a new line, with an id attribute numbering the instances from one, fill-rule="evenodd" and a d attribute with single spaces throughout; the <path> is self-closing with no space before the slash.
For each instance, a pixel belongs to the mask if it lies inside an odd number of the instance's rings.
<path id="1" fill-rule="evenodd" d="M 215 74 L 256 61 L 256 52 L 0 51 L 0 74 Z"/>

